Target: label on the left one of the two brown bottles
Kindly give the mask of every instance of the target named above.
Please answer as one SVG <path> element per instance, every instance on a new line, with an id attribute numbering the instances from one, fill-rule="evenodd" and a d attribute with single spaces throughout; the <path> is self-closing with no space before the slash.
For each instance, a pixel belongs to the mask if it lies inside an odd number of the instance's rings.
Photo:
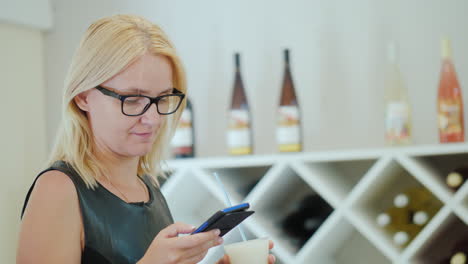
<path id="1" fill-rule="evenodd" d="M 252 152 L 250 133 L 248 110 L 231 110 L 229 113 L 229 131 L 227 134 L 229 153 L 234 155 L 250 154 Z"/>

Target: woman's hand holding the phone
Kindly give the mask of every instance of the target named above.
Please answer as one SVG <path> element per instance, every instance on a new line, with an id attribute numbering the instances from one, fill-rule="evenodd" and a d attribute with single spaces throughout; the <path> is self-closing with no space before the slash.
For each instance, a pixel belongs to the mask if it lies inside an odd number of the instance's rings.
<path id="1" fill-rule="evenodd" d="M 194 227 L 184 223 L 166 227 L 154 238 L 137 264 L 195 264 L 205 257 L 208 249 L 223 243 L 219 230 L 178 237 L 194 230 Z"/>

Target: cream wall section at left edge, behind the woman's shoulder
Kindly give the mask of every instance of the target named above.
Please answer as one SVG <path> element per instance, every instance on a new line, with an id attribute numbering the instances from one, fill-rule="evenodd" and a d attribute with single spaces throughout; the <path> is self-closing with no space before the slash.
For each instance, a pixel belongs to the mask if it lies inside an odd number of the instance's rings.
<path id="1" fill-rule="evenodd" d="M 43 35 L 0 23 L 0 263 L 15 263 L 20 213 L 46 159 Z"/>

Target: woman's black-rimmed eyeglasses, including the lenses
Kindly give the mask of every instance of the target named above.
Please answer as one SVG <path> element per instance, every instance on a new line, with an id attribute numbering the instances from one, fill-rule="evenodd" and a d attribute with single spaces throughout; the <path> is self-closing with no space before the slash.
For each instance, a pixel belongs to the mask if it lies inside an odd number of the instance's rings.
<path id="1" fill-rule="evenodd" d="M 101 93 L 119 99 L 122 102 L 122 114 L 126 116 L 139 116 L 144 114 L 154 103 L 160 115 L 170 115 L 179 109 L 185 97 L 181 91 L 173 88 L 172 94 L 165 94 L 158 97 L 145 95 L 121 95 L 100 85 L 96 89 Z"/>

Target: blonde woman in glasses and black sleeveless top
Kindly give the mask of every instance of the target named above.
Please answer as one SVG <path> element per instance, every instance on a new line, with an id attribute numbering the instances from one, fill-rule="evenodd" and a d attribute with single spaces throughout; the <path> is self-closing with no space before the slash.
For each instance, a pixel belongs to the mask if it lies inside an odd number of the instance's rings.
<path id="1" fill-rule="evenodd" d="M 26 197 L 17 263 L 188 264 L 223 242 L 219 230 L 179 237 L 194 227 L 173 223 L 155 177 L 185 92 L 180 59 L 156 25 L 116 15 L 88 28 L 48 169 Z"/>

